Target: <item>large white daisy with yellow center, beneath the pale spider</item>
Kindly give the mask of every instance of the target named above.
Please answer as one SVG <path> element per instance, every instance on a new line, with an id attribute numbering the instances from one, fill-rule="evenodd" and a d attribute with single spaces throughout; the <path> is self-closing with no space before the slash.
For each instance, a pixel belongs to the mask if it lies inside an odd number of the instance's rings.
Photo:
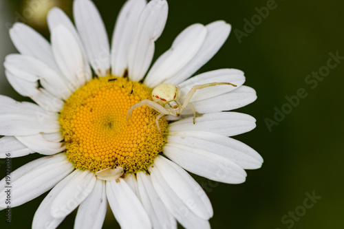
<path id="1" fill-rule="evenodd" d="M 253 102 L 244 73 L 217 69 L 193 76 L 224 44 L 230 25 L 196 23 L 183 30 L 151 66 L 155 41 L 168 14 L 165 0 L 129 0 L 114 28 L 111 45 L 94 3 L 74 1 L 74 27 L 53 8 L 47 16 L 50 43 L 22 23 L 10 36 L 20 54 L 6 57 L 8 81 L 34 102 L 0 96 L 0 156 L 47 155 L 0 182 L 0 208 L 20 206 L 50 190 L 36 210 L 32 228 L 56 228 L 78 208 L 74 228 L 101 228 L 111 207 L 121 228 L 210 228 L 211 202 L 194 173 L 239 184 L 244 169 L 259 168 L 261 156 L 233 138 L 255 128 L 255 118 L 224 112 Z M 151 66 L 151 67 L 150 67 Z M 192 78 L 190 78 L 193 76 Z M 162 83 L 179 87 L 180 98 L 195 85 L 193 110 L 155 119 L 147 106 Z M 162 91 L 164 92 L 164 91 Z M 158 105 L 158 103 L 157 103 Z"/>

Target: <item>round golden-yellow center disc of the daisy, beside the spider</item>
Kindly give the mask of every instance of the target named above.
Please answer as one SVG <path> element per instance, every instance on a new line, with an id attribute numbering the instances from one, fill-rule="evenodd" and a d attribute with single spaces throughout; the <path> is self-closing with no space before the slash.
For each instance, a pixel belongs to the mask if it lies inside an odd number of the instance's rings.
<path id="1" fill-rule="evenodd" d="M 149 107 L 129 108 L 151 99 L 151 89 L 127 78 L 94 78 L 76 90 L 60 113 L 66 155 L 76 168 L 100 171 L 121 166 L 126 172 L 147 170 L 166 143 L 167 121 Z"/>

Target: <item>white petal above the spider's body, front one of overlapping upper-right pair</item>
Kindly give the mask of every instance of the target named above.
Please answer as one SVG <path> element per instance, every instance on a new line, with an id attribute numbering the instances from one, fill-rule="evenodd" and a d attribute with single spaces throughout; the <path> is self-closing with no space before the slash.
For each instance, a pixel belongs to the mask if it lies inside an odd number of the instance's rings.
<path id="1" fill-rule="evenodd" d="M 200 50 L 206 33 L 206 28 L 201 24 L 190 25 L 181 32 L 173 41 L 172 47 L 162 54 L 151 67 L 144 84 L 154 88 L 177 74 Z"/>

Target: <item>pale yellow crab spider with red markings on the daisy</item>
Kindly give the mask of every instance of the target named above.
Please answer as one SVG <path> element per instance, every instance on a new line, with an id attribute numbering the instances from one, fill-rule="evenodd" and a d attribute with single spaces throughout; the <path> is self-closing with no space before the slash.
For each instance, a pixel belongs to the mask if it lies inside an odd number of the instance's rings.
<path id="1" fill-rule="evenodd" d="M 193 107 L 192 103 L 190 102 L 191 98 L 198 89 L 213 87 L 216 85 L 232 85 L 233 87 L 237 87 L 237 85 L 233 85 L 232 83 L 206 83 L 204 85 L 195 85 L 191 88 L 188 94 L 186 94 L 184 101 L 181 102 L 179 87 L 176 87 L 171 83 L 164 83 L 162 85 L 159 85 L 152 91 L 153 101 L 145 99 L 130 107 L 127 113 L 128 124 L 133 110 L 144 105 L 146 105 L 147 107 L 151 107 L 151 109 L 155 109 L 155 111 L 158 111 L 160 113 L 155 119 L 159 131 L 160 126 L 158 121 L 162 116 L 170 115 L 178 117 L 187 105 L 190 105 L 191 109 L 193 110 L 193 124 L 195 124 L 196 111 L 195 107 Z"/>

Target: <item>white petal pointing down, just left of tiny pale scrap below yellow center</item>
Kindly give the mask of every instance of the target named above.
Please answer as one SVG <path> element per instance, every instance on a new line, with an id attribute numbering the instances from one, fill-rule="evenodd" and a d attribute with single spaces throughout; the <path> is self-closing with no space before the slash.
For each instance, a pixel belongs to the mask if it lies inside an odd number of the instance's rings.
<path id="1" fill-rule="evenodd" d="M 92 193 L 83 201 L 76 214 L 74 228 L 102 228 L 107 212 L 105 182 L 97 179 Z"/>

